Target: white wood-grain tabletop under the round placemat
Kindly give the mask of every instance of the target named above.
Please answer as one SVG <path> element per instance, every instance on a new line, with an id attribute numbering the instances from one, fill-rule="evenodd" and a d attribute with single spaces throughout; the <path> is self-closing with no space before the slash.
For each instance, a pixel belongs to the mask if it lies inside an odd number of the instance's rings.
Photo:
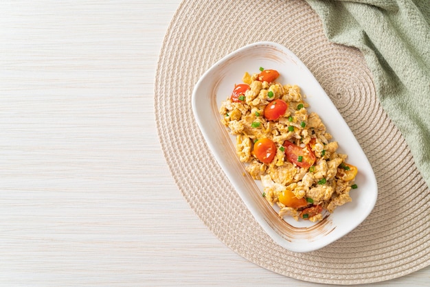
<path id="1" fill-rule="evenodd" d="M 0 286 L 322 286 L 231 251 L 174 184 L 152 89 L 178 5 L 0 1 Z"/>

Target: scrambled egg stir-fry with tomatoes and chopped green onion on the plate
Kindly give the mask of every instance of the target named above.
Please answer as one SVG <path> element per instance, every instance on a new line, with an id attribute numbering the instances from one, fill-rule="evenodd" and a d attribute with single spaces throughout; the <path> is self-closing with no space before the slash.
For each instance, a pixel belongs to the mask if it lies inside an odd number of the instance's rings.
<path id="1" fill-rule="evenodd" d="M 326 126 L 317 113 L 308 113 L 297 85 L 258 80 L 258 73 L 245 73 L 249 85 L 233 100 L 228 97 L 219 109 L 221 122 L 236 135 L 236 153 L 246 170 L 264 187 L 264 198 L 280 207 L 279 216 L 292 216 L 313 222 L 324 218 L 324 210 L 350 202 L 350 190 L 357 168 L 346 163 L 346 154 L 337 153 L 338 143 L 330 141 Z M 274 120 L 267 119 L 265 108 L 274 100 L 288 107 Z M 270 139 L 276 150 L 268 149 L 269 163 L 258 159 L 255 143 Z M 286 193 L 292 197 L 286 198 Z"/>

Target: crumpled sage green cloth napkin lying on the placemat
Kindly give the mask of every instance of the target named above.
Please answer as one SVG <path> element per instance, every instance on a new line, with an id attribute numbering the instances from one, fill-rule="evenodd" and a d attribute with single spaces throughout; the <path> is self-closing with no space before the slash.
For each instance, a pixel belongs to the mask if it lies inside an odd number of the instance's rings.
<path id="1" fill-rule="evenodd" d="M 306 1 L 329 41 L 361 50 L 384 111 L 430 187 L 430 1 Z"/>

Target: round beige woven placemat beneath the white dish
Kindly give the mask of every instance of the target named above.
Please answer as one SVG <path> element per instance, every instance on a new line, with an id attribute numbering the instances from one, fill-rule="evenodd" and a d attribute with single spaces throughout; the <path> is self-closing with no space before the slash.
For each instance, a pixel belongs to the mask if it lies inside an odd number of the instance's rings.
<path id="1" fill-rule="evenodd" d="M 267 236 L 208 152 L 192 113 L 192 89 L 201 75 L 231 51 L 258 41 L 280 43 L 304 62 L 357 137 L 378 181 L 372 214 L 312 253 L 287 251 Z M 326 284 L 380 282 L 430 264 L 430 190 L 378 103 L 363 56 L 329 43 L 305 1 L 183 1 L 161 47 L 155 118 L 164 156 L 190 207 L 251 262 Z"/>

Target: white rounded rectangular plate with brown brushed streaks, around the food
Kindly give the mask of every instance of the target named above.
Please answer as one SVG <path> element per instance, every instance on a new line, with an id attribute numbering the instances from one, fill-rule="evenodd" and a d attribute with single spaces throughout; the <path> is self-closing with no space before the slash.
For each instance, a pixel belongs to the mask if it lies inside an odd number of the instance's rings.
<path id="1" fill-rule="evenodd" d="M 282 84 L 297 84 L 310 104 L 308 110 L 316 112 L 326 125 L 333 141 L 339 143 L 339 153 L 348 154 L 348 163 L 357 166 L 358 188 L 351 190 L 351 203 L 337 207 L 320 222 L 295 221 L 278 216 L 262 197 L 260 181 L 254 181 L 236 155 L 236 137 L 229 135 L 220 124 L 218 108 L 234 88 L 242 82 L 245 71 L 257 73 L 260 67 L 280 72 Z M 207 146 L 223 168 L 253 216 L 264 231 L 280 246 L 295 252 L 320 249 L 357 227 L 370 214 L 376 203 L 378 187 L 372 167 L 348 124 L 313 74 L 291 51 L 271 42 L 259 42 L 242 47 L 218 61 L 197 82 L 192 93 L 192 109 L 196 122 L 207 141 Z"/>

